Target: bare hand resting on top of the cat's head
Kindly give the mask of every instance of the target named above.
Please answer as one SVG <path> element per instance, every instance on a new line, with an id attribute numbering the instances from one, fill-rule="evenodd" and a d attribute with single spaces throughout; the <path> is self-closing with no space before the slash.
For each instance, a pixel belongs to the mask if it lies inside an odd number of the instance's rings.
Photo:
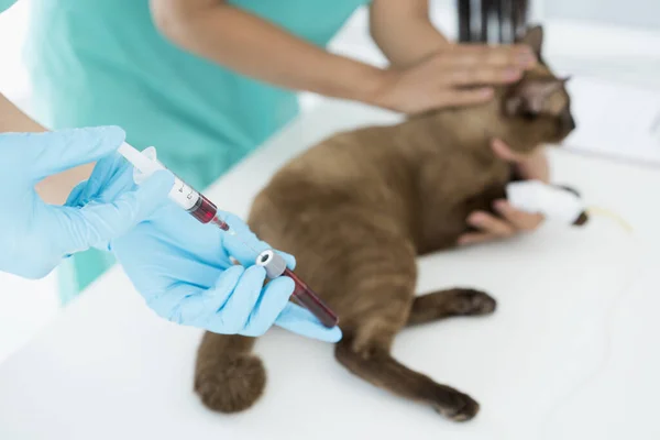
<path id="1" fill-rule="evenodd" d="M 492 85 L 518 80 L 536 65 L 527 45 L 453 44 L 407 69 L 383 72 L 366 102 L 408 114 L 493 98 Z"/>

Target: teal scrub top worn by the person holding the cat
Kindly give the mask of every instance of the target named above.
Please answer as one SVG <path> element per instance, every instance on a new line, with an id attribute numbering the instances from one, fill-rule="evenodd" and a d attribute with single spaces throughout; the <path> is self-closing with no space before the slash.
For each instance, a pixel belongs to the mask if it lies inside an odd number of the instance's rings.
<path id="1" fill-rule="evenodd" d="M 367 2 L 229 1 L 319 47 Z M 44 125 L 120 125 L 129 143 L 155 146 L 167 167 L 199 189 L 298 113 L 295 92 L 168 42 L 148 0 L 32 0 L 25 59 L 32 114 Z M 63 302 L 112 263 L 95 250 L 74 255 L 61 267 Z"/>

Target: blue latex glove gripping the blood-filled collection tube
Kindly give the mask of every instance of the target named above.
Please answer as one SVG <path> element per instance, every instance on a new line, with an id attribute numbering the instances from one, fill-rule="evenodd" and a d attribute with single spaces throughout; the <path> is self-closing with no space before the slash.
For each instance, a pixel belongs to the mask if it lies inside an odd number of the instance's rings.
<path id="1" fill-rule="evenodd" d="M 90 183 L 80 185 L 68 204 L 103 202 L 131 186 L 132 167 L 103 160 Z M 338 327 L 327 329 L 309 311 L 288 301 L 294 290 L 290 278 L 283 276 L 264 286 L 265 270 L 254 261 L 271 248 L 238 217 L 222 213 L 222 218 L 235 237 L 199 223 L 168 202 L 150 220 L 113 240 L 111 250 L 147 305 L 173 322 L 249 337 L 262 336 L 275 324 L 308 338 L 339 341 Z M 241 265 L 232 264 L 230 255 Z M 295 258 L 282 255 L 293 270 Z"/>

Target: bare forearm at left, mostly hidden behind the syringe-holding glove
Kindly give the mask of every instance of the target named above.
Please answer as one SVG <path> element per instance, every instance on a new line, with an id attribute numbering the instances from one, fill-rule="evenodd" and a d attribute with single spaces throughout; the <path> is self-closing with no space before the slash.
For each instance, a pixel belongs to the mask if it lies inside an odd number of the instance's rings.
<path id="1" fill-rule="evenodd" d="M 38 133 L 47 130 L 0 94 L 0 133 Z M 66 201 L 72 189 L 89 177 L 92 168 L 94 164 L 89 164 L 48 176 L 40 182 L 35 189 L 47 204 L 62 205 Z"/>

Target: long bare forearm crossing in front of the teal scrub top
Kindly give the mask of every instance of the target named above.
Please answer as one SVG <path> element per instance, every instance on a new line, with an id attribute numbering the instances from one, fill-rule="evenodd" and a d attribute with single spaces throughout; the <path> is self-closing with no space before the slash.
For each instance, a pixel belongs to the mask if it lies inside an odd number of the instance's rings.
<path id="1" fill-rule="evenodd" d="M 175 44 L 242 75 L 294 90 L 365 100 L 381 70 L 289 34 L 217 0 L 152 0 Z"/>

